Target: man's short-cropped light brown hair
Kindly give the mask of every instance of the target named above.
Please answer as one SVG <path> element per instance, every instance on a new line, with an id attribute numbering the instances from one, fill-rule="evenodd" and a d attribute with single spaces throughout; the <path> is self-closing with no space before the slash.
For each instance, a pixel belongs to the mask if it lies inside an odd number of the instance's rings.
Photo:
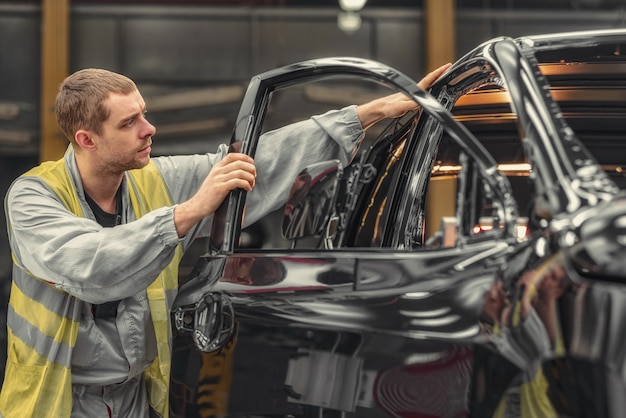
<path id="1" fill-rule="evenodd" d="M 131 94 L 137 90 L 128 77 L 108 70 L 86 68 L 68 76 L 59 87 L 54 111 L 70 142 L 80 129 L 101 134 L 110 114 L 104 102 L 111 93 Z"/>

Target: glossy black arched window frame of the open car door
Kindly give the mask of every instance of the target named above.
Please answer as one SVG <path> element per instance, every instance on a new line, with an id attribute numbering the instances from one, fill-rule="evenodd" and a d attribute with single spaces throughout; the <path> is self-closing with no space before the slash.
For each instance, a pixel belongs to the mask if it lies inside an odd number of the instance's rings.
<path id="1" fill-rule="evenodd" d="M 353 57 L 324 58 L 288 65 L 253 77 L 242 100 L 231 145 L 241 143 L 241 152 L 254 156 L 273 92 L 294 85 L 337 77 L 369 79 L 415 100 L 423 112 L 435 118 L 472 156 L 480 170 L 488 173 L 485 177 L 502 207 L 506 208 L 502 219 L 503 231 L 508 231 L 508 234 L 514 233 L 516 211 L 514 206 L 510 207 L 513 204 L 510 198 L 511 187 L 508 179 L 496 170 L 493 157 L 467 128 L 455 121 L 450 112 L 421 89 L 415 80 L 376 61 Z M 214 252 L 233 253 L 237 249 L 237 238 L 241 233 L 241 222 L 238 220 L 243 213 L 245 196 L 246 193 L 242 190 L 231 192 L 216 211 L 214 228 L 217 225 L 223 229 L 211 233 L 212 237 L 221 237 L 212 243 Z"/>

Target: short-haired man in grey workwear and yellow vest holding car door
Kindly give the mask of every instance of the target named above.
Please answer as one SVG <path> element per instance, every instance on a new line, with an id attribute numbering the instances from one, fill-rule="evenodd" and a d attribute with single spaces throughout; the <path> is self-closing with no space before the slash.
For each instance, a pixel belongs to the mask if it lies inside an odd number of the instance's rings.
<path id="1" fill-rule="evenodd" d="M 5 200 L 14 268 L 2 416 L 167 416 L 178 261 L 225 196 L 250 192 L 254 222 L 286 201 L 302 168 L 347 163 L 364 127 L 412 108 L 395 94 L 289 125 L 265 135 L 256 161 L 226 145 L 151 159 L 156 129 L 130 79 L 66 78 L 55 111 L 70 147 Z"/>

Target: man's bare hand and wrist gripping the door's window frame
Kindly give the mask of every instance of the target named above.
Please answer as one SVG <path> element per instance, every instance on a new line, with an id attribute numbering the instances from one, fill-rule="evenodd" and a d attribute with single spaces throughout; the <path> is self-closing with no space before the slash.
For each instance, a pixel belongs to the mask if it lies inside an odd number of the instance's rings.
<path id="1" fill-rule="evenodd" d="M 174 209 L 174 224 L 183 237 L 203 218 L 215 213 L 228 193 L 235 189 L 251 191 L 256 181 L 256 167 L 246 154 L 229 153 L 213 166 L 196 194 Z"/>

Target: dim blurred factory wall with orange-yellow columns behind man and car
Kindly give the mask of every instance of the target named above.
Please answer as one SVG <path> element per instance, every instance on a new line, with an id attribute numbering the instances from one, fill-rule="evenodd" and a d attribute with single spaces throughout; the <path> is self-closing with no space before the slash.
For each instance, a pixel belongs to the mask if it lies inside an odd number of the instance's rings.
<path id="1" fill-rule="evenodd" d="M 230 140 L 250 77 L 274 67 L 356 56 L 417 80 L 493 37 L 624 27 L 626 20 L 626 0 L 358 3 L 0 0 L 0 194 L 21 172 L 62 155 L 67 141 L 56 127 L 54 96 L 80 68 L 137 82 L 158 130 L 153 154 L 207 152 Z M 0 372 L 10 270 L 2 227 Z"/>

